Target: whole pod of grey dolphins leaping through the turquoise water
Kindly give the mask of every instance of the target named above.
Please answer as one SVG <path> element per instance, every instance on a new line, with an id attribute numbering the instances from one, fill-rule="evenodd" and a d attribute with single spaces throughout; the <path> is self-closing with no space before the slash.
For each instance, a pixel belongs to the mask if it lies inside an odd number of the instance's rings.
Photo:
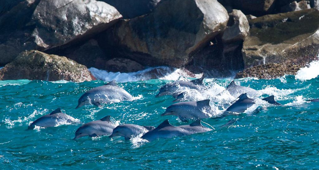
<path id="1" fill-rule="evenodd" d="M 201 119 L 212 117 L 213 110 L 209 104 L 210 100 L 185 101 L 188 100 L 185 95 L 187 93 L 185 90 L 193 89 L 201 92 L 206 89 L 206 86 L 203 84 L 203 80 L 204 78 L 199 78 L 192 81 L 175 81 L 167 83 L 159 89 L 159 93 L 155 96 L 173 96 L 175 98 L 173 102 L 178 103 L 174 103 L 167 107 L 166 111 L 161 114 L 161 116 L 173 115 L 183 122 L 195 120 L 189 125 L 173 126 L 166 119 L 156 128 L 154 126 L 140 126 L 134 124 L 122 124 L 116 126 L 116 124 L 111 121 L 111 116 L 106 116 L 100 120 L 83 124 L 76 130 L 74 139 L 79 139 L 84 136 L 98 137 L 109 135 L 110 138 L 122 136 L 125 140 L 129 140 L 132 137 L 142 135 L 142 139 L 146 139 L 151 142 L 159 138 L 172 138 L 211 131 L 212 129 L 203 126 L 201 121 Z M 248 96 L 256 97 L 258 94 L 257 90 L 236 85 L 234 81 L 226 87 L 225 91 L 228 91 L 234 97 L 239 97 L 237 101 L 226 109 L 223 115 L 245 112 L 250 106 L 255 104 L 255 99 L 251 99 Z M 95 105 L 100 107 L 102 104 L 132 100 L 133 97 L 127 91 L 117 86 L 115 80 L 113 80 L 106 85 L 95 87 L 85 92 L 80 99 L 78 99 L 76 109 L 84 105 Z M 281 105 L 275 101 L 274 96 L 269 96 L 262 100 L 267 101 L 271 105 Z M 319 99 L 312 99 L 308 101 L 319 102 Z M 29 125 L 28 129 L 34 129 L 35 126 L 53 127 L 59 126 L 62 123 L 71 124 L 75 122 L 76 119 L 63 113 L 60 108 L 57 108 L 50 114 L 44 115 L 33 121 Z M 232 122 L 233 121 L 229 121 L 229 124 Z"/>

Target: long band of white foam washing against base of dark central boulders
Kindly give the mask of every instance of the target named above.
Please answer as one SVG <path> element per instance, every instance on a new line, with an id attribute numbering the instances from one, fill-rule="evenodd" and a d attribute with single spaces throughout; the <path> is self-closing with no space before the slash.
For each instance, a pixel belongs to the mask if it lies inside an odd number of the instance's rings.
<path id="1" fill-rule="evenodd" d="M 187 71 L 167 66 L 152 67 L 142 71 L 129 73 L 108 72 L 105 70 L 96 69 L 94 67 L 91 67 L 89 71 L 91 71 L 95 78 L 100 80 L 116 80 L 117 82 L 142 81 L 149 79 L 177 80 L 181 76 L 190 77 Z M 201 77 L 201 75 L 198 74 L 196 77 Z"/>

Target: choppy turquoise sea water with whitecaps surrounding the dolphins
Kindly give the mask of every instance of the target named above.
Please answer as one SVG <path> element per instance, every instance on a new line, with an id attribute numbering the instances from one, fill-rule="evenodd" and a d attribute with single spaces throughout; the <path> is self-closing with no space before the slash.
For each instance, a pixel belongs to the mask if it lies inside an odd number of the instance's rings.
<path id="1" fill-rule="evenodd" d="M 205 79 L 207 91 L 195 93 L 194 100 L 211 99 L 214 113 L 203 121 L 215 130 L 153 142 L 138 136 L 130 141 L 108 136 L 73 138 L 83 123 L 107 115 L 118 124 L 158 126 L 165 119 L 175 126 L 191 123 L 160 116 L 174 98 L 154 97 L 162 85 L 179 78 L 179 71 L 143 80 L 138 73 L 90 70 L 104 81 L 0 81 L 1 169 L 319 169 L 319 103 L 306 101 L 319 98 L 319 62 L 296 75 L 235 80 L 259 90 L 261 96 L 245 113 L 226 117 L 219 116 L 235 98 L 219 93 L 233 79 Z M 84 92 L 112 79 L 118 79 L 135 100 L 75 109 Z M 261 100 L 269 95 L 283 106 Z M 27 130 L 35 119 L 57 107 L 78 123 Z"/>

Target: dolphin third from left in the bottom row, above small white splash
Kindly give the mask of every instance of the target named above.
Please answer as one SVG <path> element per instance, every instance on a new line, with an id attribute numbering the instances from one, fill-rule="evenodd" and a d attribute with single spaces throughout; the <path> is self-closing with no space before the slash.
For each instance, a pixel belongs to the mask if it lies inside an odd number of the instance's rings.
<path id="1" fill-rule="evenodd" d="M 123 124 L 123 125 L 116 126 L 109 137 L 113 138 L 115 136 L 123 136 L 125 140 L 130 140 L 132 136 L 145 134 L 146 132 L 153 129 L 155 129 L 154 126 L 139 126 L 134 124 Z"/>

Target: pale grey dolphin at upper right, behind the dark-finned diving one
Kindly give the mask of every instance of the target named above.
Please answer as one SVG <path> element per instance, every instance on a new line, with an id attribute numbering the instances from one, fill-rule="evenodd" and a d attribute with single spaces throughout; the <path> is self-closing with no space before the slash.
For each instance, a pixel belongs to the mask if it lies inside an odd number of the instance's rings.
<path id="1" fill-rule="evenodd" d="M 230 95 L 237 97 L 240 94 L 247 93 L 247 95 L 255 96 L 258 94 L 258 91 L 255 89 L 252 89 L 250 87 L 245 87 L 241 85 L 236 85 L 235 81 L 232 81 L 227 87 L 226 90 L 230 93 Z"/>

